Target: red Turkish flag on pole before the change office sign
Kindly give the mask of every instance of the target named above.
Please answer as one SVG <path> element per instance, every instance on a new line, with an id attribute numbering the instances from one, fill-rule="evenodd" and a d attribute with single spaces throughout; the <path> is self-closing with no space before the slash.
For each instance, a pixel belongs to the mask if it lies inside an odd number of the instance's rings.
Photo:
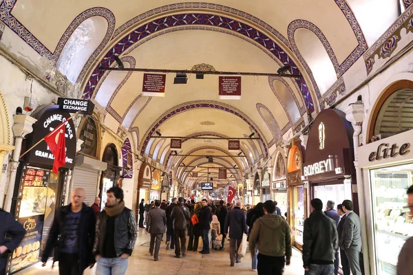
<path id="1" fill-rule="evenodd" d="M 45 142 L 54 155 L 53 173 L 57 174 L 61 166 L 66 164 L 66 137 L 65 123 L 61 123 L 52 132 L 45 136 Z"/>

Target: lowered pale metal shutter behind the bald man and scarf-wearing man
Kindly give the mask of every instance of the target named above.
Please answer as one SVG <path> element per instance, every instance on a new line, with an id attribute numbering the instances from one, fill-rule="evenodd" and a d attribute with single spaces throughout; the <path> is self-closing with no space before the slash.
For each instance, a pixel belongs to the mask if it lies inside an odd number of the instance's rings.
<path id="1" fill-rule="evenodd" d="M 92 206 L 98 188 L 98 170 L 87 170 L 76 167 L 74 169 L 73 189 L 83 188 L 86 193 L 85 203 Z"/>

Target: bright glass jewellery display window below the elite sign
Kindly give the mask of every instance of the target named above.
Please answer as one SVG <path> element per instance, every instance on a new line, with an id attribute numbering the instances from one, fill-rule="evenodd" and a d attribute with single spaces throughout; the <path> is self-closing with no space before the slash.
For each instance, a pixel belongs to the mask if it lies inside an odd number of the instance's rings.
<path id="1" fill-rule="evenodd" d="M 378 275 L 396 274 L 401 248 L 413 236 L 413 215 L 405 208 L 412 177 L 413 164 L 370 170 Z"/>

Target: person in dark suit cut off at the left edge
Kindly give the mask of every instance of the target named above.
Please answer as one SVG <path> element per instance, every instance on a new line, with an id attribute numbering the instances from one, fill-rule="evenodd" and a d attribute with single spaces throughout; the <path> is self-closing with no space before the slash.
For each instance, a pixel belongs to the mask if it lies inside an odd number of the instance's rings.
<path id="1" fill-rule="evenodd" d="M 23 225 L 12 214 L 0 208 L 0 275 L 6 271 L 7 254 L 17 248 L 25 235 Z"/>

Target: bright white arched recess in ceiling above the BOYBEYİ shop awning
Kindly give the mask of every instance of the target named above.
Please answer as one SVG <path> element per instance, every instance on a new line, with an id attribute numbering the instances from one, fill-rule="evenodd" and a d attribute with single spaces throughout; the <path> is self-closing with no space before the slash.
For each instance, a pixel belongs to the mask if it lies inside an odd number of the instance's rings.
<path id="1" fill-rule="evenodd" d="M 320 93 L 324 94 L 337 80 L 335 68 L 326 48 L 314 32 L 303 28 L 295 31 L 294 40 L 299 53 L 313 73 Z"/>

